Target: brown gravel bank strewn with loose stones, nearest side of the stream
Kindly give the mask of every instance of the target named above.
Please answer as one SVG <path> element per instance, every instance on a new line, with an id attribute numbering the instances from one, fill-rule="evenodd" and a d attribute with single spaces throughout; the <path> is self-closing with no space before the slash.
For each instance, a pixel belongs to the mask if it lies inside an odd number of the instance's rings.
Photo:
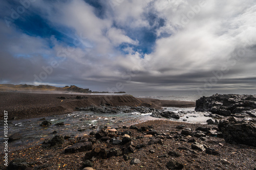
<path id="1" fill-rule="evenodd" d="M 251 136 L 256 132 L 255 125 L 249 122 L 225 120 L 217 127 L 155 120 L 116 129 L 92 128 L 90 135 L 75 138 L 56 135 L 45 140 L 34 150 L 35 153 L 44 152 L 45 156 L 37 161 L 25 159 L 32 157 L 29 149 L 20 155 L 24 155 L 24 159 L 13 159 L 8 169 L 238 169 L 245 163 L 243 160 L 240 164 L 237 159 L 241 158 L 236 157 L 242 150 L 248 161 L 244 169 L 253 169 L 254 165 L 256 167 L 253 148 L 239 149 L 223 143 L 223 135 L 226 141 L 234 143 L 237 139 L 234 134 L 238 134 L 234 130 L 243 135 L 243 141 L 254 143 L 255 138 Z M 250 143 L 245 144 L 254 146 Z M 230 157 L 230 154 L 233 155 Z M 206 163 L 207 160 L 211 163 Z M 70 165 L 70 162 L 76 164 Z"/>

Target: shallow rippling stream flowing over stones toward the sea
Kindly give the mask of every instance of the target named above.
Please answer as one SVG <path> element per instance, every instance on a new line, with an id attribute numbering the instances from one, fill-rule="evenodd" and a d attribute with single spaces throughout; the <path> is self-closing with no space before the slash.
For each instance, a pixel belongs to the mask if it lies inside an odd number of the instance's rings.
<path id="1" fill-rule="evenodd" d="M 165 108 L 169 111 L 194 111 L 194 108 Z M 96 130 L 100 127 L 108 126 L 111 128 L 117 128 L 121 126 L 130 126 L 138 123 L 145 122 L 147 120 L 174 120 L 183 122 L 186 119 L 186 123 L 205 123 L 209 117 L 205 117 L 203 113 L 187 113 L 183 114 L 179 120 L 167 119 L 167 118 L 155 118 L 150 116 L 151 113 L 141 114 L 134 113 L 118 113 L 118 114 L 101 114 L 93 113 L 90 111 L 77 111 L 70 114 L 55 115 L 40 118 L 19 119 L 8 122 L 8 137 L 12 134 L 18 133 L 22 136 L 21 139 L 8 142 L 9 152 L 29 148 L 32 145 L 42 143 L 45 139 L 52 138 L 54 135 L 69 135 L 71 138 L 76 136 L 82 136 L 84 134 L 90 134 L 92 127 L 95 126 Z M 40 124 L 48 120 L 51 125 L 48 127 L 42 127 Z M 56 126 L 55 124 L 63 122 L 63 126 Z M 0 131 L 4 132 L 4 126 L 1 125 Z M 57 133 L 53 133 L 56 131 Z M 1 134 L 0 140 L 3 141 L 4 134 Z M 4 150 L 1 150 L 3 153 Z"/>

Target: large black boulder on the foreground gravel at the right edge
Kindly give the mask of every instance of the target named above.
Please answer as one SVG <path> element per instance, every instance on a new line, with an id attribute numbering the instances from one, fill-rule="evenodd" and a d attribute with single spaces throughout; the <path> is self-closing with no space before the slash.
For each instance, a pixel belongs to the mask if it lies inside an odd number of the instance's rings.
<path id="1" fill-rule="evenodd" d="M 253 123 L 223 120 L 218 127 L 226 142 L 256 147 L 256 126 Z"/>

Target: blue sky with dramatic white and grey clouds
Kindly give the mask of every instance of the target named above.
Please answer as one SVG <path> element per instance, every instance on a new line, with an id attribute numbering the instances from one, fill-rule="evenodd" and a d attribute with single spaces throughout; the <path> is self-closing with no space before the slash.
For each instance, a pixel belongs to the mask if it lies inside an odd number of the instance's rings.
<path id="1" fill-rule="evenodd" d="M 255 88 L 255 0 L 22 0 L 0 10 L 0 83 Z"/>

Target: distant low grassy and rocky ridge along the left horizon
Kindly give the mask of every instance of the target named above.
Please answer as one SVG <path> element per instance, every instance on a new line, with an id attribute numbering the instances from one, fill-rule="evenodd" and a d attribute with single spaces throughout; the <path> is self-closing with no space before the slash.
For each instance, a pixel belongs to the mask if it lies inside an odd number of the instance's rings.
<path id="1" fill-rule="evenodd" d="M 108 91 L 92 91 L 89 88 L 80 88 L 75 85 L 65 87 L 55 87 L 50 85 L 28 85 L 28 84 L 0 84 L 2 91 L 62 91 L 62 92 L 77 92 L 77 93 L 110 93 Z M 124 91 L 114 93 L 125 93 Z"/>

